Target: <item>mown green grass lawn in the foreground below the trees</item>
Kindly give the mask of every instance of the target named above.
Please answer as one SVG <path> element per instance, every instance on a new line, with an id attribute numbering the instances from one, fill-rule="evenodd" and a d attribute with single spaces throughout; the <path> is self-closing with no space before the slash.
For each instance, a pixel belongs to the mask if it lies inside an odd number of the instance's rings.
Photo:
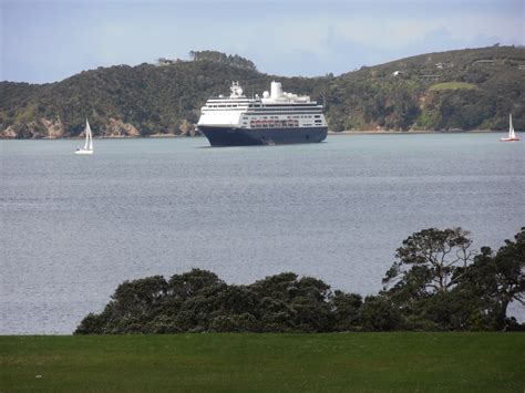
<path id="1" fill-rule="evenodd" d="M 1 392 L 525 390 L 523 333 L 0 337 L 0 355 Z"/>

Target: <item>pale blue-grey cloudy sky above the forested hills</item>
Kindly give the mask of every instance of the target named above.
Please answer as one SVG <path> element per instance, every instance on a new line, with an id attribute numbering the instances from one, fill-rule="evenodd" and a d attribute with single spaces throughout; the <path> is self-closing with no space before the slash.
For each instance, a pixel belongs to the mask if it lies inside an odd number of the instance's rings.
<path id="1" fill-rule="evenodd" d="M 0 80 L 188 59 L 212 49 L 277 75 L 340 74 L 451 49 L 525 43 L 525 0 L 0 0 Z"/>

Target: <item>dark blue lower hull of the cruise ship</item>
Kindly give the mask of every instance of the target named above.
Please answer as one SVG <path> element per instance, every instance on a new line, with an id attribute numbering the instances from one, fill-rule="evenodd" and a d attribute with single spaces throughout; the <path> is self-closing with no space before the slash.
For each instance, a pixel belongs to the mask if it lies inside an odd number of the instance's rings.
<path id="1" fill-rule="evenodd" d="M 282 145 L 316 143 L 327 137 L 328 127 L 235 128 L 199 125 L 212 146 Z"/>

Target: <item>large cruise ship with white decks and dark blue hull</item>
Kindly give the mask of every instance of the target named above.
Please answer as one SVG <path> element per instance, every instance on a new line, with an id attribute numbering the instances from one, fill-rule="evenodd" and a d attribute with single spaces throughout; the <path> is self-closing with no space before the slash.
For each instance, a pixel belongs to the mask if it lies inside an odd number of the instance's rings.
<path id="1" fill-rule="evenodd" d="M 213 96 L 200 108 L 197 128 L 212 146 L 279 145 L 322 142 L 327 122 L 322 105 L 307 95 L 282 91 L 271 82 L 270 92 L 248 99 L 238 82 L 228 96 Z"/>

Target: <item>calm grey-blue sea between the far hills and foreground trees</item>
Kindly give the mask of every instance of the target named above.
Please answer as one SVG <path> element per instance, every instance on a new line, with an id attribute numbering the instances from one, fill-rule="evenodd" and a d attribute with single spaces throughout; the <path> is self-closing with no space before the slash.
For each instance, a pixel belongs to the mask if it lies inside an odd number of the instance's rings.
<path id="1" fill-rule="evenodd" d="M 373 293 L 401 241 L 431 226 L 497 248 L 525 225 L 525 143 L 498 137 L 96 139 L 93 156 L 72 154 L 80 141 L 2 141 L 0 333 L 71 333 L 123 280 L 192 268 Z"/>

